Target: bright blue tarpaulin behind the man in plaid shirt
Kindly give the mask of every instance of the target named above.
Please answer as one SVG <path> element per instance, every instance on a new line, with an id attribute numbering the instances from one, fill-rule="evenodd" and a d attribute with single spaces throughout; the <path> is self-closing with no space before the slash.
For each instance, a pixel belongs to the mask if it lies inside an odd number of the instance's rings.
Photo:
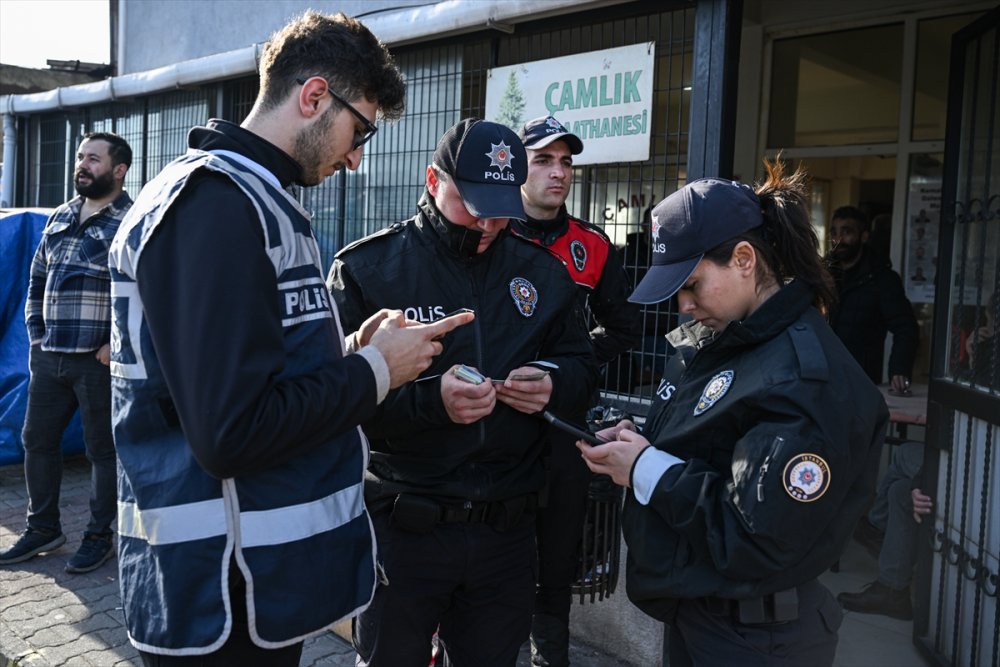
<path id="1" fill-rule="evenodd" d="M 28 332 L 24 301 L 31 258 L 51 211 L 22 209 L 0 212 L 0 465 L 24 458 L 21 427 L 28 405 Z M 80 415 L 63 437 L 64 453 L 83 451 Z"/>

